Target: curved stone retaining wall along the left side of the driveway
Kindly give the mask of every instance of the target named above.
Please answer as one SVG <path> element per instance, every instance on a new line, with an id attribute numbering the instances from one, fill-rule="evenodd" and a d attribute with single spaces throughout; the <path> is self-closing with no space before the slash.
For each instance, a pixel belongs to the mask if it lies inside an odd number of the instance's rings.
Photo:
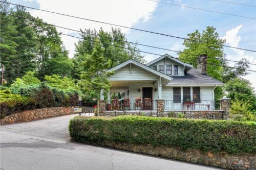
<path id="1" fill-rule="evenodd" d="M 78 107 L 78 106 L 76 106 L 76 107 Z M 11 114 L 11 115 L 6 116 L 3 119 L 1 119 L 1 124 L 21 123 L 21 122 L 28 122 L 30 120 L 40 119 L 40 118 L 75 114 L 74 108 L 75 108 L 75 106 L 72 106 L 72 107 L 49 107 L 49 108 L 17 112 L 17 113 Z M 92 109 L 92 107 L 84 107 L 84 106 L 82 107 L 83 112 L 89 112 L 91 109 Z"/>

